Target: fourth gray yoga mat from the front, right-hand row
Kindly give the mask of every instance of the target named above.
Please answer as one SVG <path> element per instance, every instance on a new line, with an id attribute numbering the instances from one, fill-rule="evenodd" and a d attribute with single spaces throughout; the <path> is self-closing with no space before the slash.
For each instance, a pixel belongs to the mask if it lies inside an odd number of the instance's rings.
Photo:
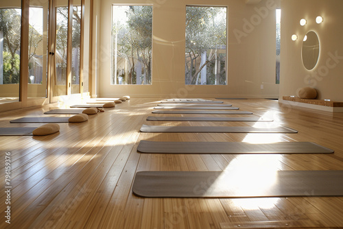
<path id="1" fill-rule="evenodd" d="M 149 116 L 147 121 L 272 121 L 261 117 L 156 117 Z"/>

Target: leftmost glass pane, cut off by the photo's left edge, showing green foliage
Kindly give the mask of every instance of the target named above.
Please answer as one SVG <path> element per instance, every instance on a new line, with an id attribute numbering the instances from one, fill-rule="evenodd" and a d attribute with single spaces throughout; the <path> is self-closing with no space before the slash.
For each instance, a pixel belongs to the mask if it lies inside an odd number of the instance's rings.
<path id="1" fill-rule="evenodd" d="M 0 104 L 19 101 L 21 2 L 0 3 Z"/>

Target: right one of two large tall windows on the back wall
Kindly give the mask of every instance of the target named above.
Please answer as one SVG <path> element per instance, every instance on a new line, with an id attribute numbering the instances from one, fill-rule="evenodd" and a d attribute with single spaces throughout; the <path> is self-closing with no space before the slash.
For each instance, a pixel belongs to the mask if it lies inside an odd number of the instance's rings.
<path id="1" fill-rule="evenodd" d="M 227 8 L 187 6 L 186 84 L 226 84 Z"/>

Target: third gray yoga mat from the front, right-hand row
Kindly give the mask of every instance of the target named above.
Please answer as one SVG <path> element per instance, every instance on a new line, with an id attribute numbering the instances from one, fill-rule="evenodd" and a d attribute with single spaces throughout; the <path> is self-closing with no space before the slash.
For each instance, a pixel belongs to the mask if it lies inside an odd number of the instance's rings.
<path id="1" fill-rule="evenodd" d="M 178 132 L 178 133 L 297 133 L 297 130 L 283 126 L 277 128 L 253 128 L 251 126 L 164 126 L 142 125 L 141 132 Z"/>

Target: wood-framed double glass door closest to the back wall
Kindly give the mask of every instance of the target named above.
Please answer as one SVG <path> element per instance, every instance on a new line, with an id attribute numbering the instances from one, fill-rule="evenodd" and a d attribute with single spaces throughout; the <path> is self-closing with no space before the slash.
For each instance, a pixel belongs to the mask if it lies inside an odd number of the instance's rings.
<path id="1" fill-rule="evenodd" d="M 54 1 L 54 47 L 51 74 L 53 97 L 79 94 L 82 85 L 82 2 Z M 53 99 L 54 101 L 54 99 Z"/>

